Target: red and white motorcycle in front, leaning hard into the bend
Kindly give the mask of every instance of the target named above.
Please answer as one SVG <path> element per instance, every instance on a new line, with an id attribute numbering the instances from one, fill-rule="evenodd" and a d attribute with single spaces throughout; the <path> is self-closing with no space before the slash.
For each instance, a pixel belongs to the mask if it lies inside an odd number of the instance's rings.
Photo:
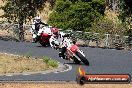
<path id="1" fill-rule="evenodd" d="M 65 57 L 68 60 L 73 61 L 76 64 L 83 62 L 85 65 L 89 65 L 89 61 L 86 59 L 84 52 L 73 43 L 70 37 L 65 37 L 63 43 L 66 46 Z"/>

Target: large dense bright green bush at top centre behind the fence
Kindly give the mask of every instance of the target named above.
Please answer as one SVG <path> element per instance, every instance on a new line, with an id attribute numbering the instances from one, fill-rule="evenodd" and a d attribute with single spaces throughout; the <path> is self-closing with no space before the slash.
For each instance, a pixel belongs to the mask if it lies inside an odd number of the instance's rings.
<path id="1" fill-rule="evenodd" d="M 104 15 L 104 0 L 57 0 L 48 23 L 62 29 L 84 30 Z"/>

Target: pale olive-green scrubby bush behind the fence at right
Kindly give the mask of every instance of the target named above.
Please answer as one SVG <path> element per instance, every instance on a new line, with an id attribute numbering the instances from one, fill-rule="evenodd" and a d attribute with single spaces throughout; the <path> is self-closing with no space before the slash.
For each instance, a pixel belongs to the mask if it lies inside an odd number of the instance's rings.
<path id="1" fill-rule="evenodd" d="M 121 24 L 118 20 L 114 21 L 107 17 L 100 19 L 98 22 L 92 24 L 92 27 L 87 29 L 91 32 L 100 34 L 123 35 L 126 30 L 125 24 Z"/>

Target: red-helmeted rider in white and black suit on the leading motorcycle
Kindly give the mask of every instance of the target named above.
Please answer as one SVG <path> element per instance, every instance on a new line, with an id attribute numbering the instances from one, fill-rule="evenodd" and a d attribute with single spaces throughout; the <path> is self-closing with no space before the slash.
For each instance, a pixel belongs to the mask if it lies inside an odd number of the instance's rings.
<path id="1" fill-rule="evenodd" d="M 59 57 L 62 59 L 65 59 L 65 51 L 66 51 L 66 46 L 63 43 L 64 37 L 67 35 L 63 32 L 59 32 L 58 28 L 51 28 L 52 31 L 52 36 L 50 38 L 50 46 L 54 49 L 59 48 Z"/>

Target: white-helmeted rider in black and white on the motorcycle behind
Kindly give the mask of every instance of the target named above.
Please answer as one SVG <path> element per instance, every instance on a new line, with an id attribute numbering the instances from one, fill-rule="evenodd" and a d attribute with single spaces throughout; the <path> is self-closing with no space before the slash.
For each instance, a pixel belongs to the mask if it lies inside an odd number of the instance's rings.
<path id="1" fill-rule="evenodd" d="M 39 32 L 40 24 L 48 26 L 47 24 L 41 21 L 41 17 L 39 16 L 39 14 L 37 14 L 37 16 L 33 19 L 32 22 L 33 42 L 37 42 L 39 40 L 40 33 L 38 34 L 38 32 Z"/>

